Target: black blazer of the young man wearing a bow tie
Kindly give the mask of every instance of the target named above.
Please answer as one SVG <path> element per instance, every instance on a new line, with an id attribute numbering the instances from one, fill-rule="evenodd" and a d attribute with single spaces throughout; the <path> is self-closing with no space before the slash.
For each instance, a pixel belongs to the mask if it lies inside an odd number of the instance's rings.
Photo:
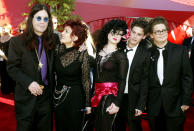
<path id="1" fill-rule="evenodd" d="M 148 93 L 148 67 L 150 53 L 144 43 L 140 43 L 131 63 L 128 78 L 128 101 L 130 116 L 135 109 L 144 111 Z"/>

